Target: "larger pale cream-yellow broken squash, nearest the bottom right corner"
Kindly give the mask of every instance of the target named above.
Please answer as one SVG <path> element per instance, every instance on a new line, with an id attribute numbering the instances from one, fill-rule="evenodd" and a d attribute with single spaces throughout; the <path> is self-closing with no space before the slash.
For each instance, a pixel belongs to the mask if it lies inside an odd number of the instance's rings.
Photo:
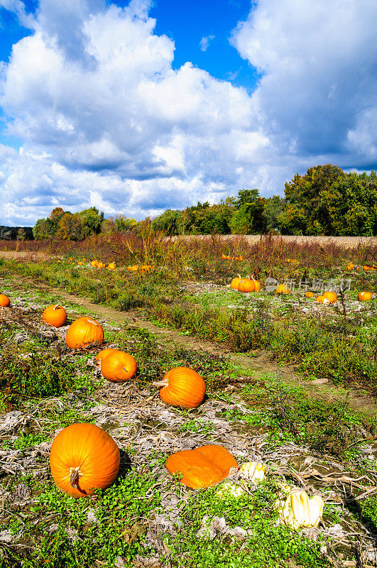
<path id="1" fill-rule="evenodd" d="M 291 528 L 315 528 L 319 525 L 323 513 L 323 499 L 315 495 L 311 499 L 299 488 L 282 486 L 289 491 L 286 498 L 278 499 L 275 507 L 280 520 Z"/>

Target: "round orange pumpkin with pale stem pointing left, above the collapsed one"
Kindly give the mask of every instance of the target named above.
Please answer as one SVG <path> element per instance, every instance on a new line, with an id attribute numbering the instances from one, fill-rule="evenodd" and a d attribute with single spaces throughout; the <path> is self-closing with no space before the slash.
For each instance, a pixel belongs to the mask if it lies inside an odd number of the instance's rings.
<path id="1" fill-rule="evenodd" d="M 153 385 L 160 387 L 160 398 L 164 403 L 182 408 L 197 408 L 205 394 L 202 377 L 188 367 L 170 369 L 162 381 Z"/>

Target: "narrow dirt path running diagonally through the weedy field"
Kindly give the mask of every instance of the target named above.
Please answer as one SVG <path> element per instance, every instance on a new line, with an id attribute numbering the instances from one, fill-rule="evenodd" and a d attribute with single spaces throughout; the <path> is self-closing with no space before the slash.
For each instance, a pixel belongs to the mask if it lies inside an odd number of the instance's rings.
<path id="1" fill-rule="evenodd" d="M 246 354 L 236 354 L 224 348 L 220 344 L 214 342 L 204 341 L 196 337 L 182 335 L 175 329 L 167 327 L 159 327 L 152 322 L 143 320 L 138 315 L 132 312 L 120 312 L 114 310 L 112 307 L 107 307 L 100 304 L 94 304 L 85 297 L 79 297 L 69 294 L 60 288 L 51 288 L 35 280 L 28 278 L 20 278 L 18 283 L 33 283 L 34 288 L 45 290 L 46 292 L 58 295 L 67 302 L 80 305 L 87 310 L 87 315 L 98 317 L 100 320 L 106 322 L 114 322 L 116 324 L 127 324 L 131 327 L 139 327 L 146 329 L 148 332 L 155 334 L 156 341 L 161 346 L 174 348 L 175 346 L 182 346 L 185 349 L 204 350 L 210 354 L 226 355 L 231 361 L 231 366 L 239 371 L 240 375 L 247 373 L 253 374 L 258 378 L 266 373 L 277 373 L 283 383 L 305 386 L 307 394 L 316 398 L 317 400 L 324 400 L 333 403 L 349 404 L 352 410 L 359 410 L 367 415 L 377 415 L 377 401 L 374 401 L 370 395 L 361 395 L 356 389 L 345 389 L 337 387 L 326 379 L 318 379 L 317 381 L 307 381 L 302 376 L 295 373 L 293 366 L 276 366 L 269 361 L 267 354 L 262 354 L 258 357 L 251 357 Z M 81 316 L 82 314 L 80 314 Z"/>

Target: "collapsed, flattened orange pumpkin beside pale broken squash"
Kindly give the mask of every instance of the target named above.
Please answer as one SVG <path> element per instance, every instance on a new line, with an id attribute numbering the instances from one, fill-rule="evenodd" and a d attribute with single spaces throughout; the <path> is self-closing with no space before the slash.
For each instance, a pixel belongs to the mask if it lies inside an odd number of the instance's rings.
<path id="1" fill-rule="evenodd" d="M 184 449 L 172 454 L 165 463 L 170 474 L 179 472 L 182 484 L 193 489 L 218 484 L 229 475 L 231 467 L 238 467 L 234 457 L 222 446 L 202 446 Z"/>

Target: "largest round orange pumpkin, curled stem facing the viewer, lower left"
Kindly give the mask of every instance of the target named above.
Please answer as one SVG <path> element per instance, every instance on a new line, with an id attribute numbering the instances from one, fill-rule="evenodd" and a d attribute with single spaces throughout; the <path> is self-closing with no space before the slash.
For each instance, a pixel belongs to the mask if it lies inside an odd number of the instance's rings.
<path id="1" fill-rule="evenodd" d="M 114 439 L 94 424 L 71 424 L 55 437 L 50 468 L 55 484 L 72 497 L 92 495 L 109 487 L 119 471 Z"/>

